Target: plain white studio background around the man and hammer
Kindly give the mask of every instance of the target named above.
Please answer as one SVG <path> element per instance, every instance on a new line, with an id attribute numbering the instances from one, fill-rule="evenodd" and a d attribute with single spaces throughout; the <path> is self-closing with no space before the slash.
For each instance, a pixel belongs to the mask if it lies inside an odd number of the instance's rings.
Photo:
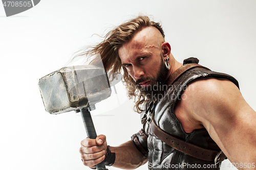
<path id="1" fill-rule="evenodd" d="M 0 169 L 90 169 L 82 165 L 78 152 L 86 138 L 79 113 L 47 113 L 37 83 L 67 66 L 84 45 L 98 41 L 93 34 L 103 35 L 138 14 L 162 22 L 178 61 L 197 57 L 200 64 L 237 78 L 245 100 L 256 110 L 255 7 L 254 0 L 41 0 L 28 11 L 6 17 L 0 5 Z M 116 89 L 117 95 L 112 87 L 111 100 L 97 104 L 92 113 L 97 134 L 105 134 L 113 146 L 141 128 L 123 85 L 116 84 Z M 235 169 L 228 163 L 222 169 Z"/>

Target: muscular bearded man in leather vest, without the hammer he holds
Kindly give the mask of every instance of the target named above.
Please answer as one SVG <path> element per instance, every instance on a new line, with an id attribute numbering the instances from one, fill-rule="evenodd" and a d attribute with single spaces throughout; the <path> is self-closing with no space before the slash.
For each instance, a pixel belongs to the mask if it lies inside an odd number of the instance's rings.
<path id="1" fill-rule="evenodd" d="M 254 169 L 256 113 L 238 82 L 197 65 L 195 58 L 179 63 L 170 50 L 159 23 L 139 16 L 84 53 L 99 53 L 107 71 L 123 69 L 129 96 L 137 99 L 135 110 L 143 111 L 143 129 L 119 147 L 107 147 L 104 135 L 84 139 L 83 164 L 95 168 L 105 160 L 135 169 L 148 161 L 149 169 L 219 169 L 226 156 L 239 169 Z"/>

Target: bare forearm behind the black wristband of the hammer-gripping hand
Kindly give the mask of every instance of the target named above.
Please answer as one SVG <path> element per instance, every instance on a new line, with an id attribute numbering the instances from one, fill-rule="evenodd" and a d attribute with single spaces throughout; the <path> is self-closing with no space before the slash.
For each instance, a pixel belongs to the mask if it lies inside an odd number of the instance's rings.
<path id="1" fill-rule="evenodd" d="M 147 162 L 147 158 L 137 150 L 132 140 L 127 141 L 118 147 L 110 147 L 115 152 L 116 160 L 114 167 L 121 169 L 135 169 Z"/>

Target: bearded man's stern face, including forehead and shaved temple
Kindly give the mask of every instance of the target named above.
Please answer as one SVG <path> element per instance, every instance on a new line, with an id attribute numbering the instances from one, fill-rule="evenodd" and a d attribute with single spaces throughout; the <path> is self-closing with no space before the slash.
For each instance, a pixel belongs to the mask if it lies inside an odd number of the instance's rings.
<path id="1" fill-rule="evenodd" d="M 165 90 L 160 85 L 165 85 L 168 75 L 162 57 L 163 38 L 161 34 L 158 37 L 159 34 L 154 27 L 144 28 L 118 50 L 122 65 L 141 92 L 151 99 L 152 95 Z"/>

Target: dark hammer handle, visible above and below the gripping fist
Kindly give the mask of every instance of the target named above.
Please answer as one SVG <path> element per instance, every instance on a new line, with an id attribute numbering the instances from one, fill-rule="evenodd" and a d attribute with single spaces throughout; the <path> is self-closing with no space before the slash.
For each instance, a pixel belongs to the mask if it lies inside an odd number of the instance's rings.
<path id="1" fill-rule="evenodd" d="M 83 125 L 86 128 L 87 137 L 89 137 L 90 139 L 96 139 L 97 134 L 93 125 L 93 119 L 92 119 L 91 113 L 88 109 L 89 109 L 88 107 L 80 109 Z M 106 170 L 104 160 L 98 163 L 96 165 L 96 168 L 98 170 Z"/>

